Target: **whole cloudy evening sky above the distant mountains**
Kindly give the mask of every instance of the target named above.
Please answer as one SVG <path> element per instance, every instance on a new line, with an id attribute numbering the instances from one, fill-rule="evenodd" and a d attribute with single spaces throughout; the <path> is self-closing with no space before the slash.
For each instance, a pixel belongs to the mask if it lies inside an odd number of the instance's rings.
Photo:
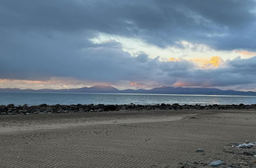
<path id="1" fill-rule="evenodd" d="M 256 91 L 256 1 L 0 1 L 0 88 Z"/>

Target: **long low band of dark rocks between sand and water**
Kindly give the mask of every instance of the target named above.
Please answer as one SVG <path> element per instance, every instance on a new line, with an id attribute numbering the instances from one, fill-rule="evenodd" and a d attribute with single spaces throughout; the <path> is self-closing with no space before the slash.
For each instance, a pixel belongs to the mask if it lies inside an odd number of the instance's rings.
<path id="1" fill-rule="evenodd" d="M 101 112 L 101 111 L 119 111 L 119 110 L 167 110 L 167 109 L 256 109 L 256 104 L 245 105 L 180 105 L 175 104 L 155 104 L 155 105 L 139 105 L 139 104 L 123 104 L 123 105 L 104 105 L 104 104 L 71 104 L 71 105 L 33 105 L 27 104 L 15 106 L 14 104 L 0 105 L 0 115 L 17 115 L 17 114 L 55 114 L 55 113 L 86 113 L 86 112 Z"/>

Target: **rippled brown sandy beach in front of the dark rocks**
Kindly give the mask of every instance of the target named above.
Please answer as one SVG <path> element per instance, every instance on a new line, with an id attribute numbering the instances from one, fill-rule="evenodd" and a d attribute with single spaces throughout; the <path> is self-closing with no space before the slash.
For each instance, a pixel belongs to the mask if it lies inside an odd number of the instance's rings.
<path id="1" fill-rule="evenodd" d="M 230 143 L 256 143 L 256 111 L 4 115 L 0 141 L 0 167 L 255 167 Z"/>

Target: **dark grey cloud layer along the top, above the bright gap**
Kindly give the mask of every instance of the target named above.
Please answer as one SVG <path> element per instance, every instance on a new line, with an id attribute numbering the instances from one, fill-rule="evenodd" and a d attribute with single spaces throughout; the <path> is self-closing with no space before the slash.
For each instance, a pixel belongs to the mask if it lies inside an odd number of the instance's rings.
<path id="1" fill-rule="evenodd" d="M 228 50 L 255 50 L 256 45 L 253 0 L 10 0 L 0 8 L 0 26 L 20 31 L 104 32 L 162 47 L 179 40 Z"/>

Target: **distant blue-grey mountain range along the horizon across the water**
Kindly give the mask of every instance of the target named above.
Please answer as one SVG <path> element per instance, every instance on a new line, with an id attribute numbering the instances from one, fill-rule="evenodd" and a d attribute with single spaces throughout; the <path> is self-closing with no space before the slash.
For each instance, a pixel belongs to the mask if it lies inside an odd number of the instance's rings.
<path id="1" fill-rule="evenodd" d="M 183 87 L 168 87 L 145 89 L 126 89 L 118 90 L 112 86 L 96 85 L 94 87 L 84 87 L 77 89 L 18 89 L 18 88 L 0 88 L 0 92 L 42 92 L 42 93 L 130 93 L 130 94 L 187 94 L 187 95 L 238 95 L 238 96 L 256 96 L 256 92 L 242 92 L 233 90 L 220 90 L 216 88 L 183 88 Z"/>

